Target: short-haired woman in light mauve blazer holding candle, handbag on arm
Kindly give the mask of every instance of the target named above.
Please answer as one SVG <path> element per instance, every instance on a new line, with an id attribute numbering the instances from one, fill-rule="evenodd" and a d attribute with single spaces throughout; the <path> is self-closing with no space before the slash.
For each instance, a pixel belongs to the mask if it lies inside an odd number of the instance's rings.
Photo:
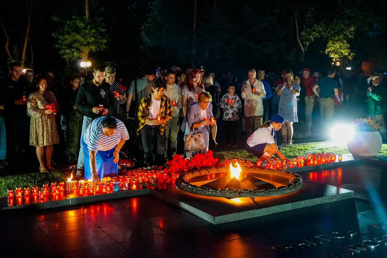
<path id="1" fill-rule="evenodd" d="M 198 102 L 192 103 L 188 109 L 187 117 L 184 118 L 184 122 L 187 121 L 189 129 L 197 128 L 200 133 L 203 134 L 203 140 L 205 148 L 200 151 L 192 151 L 192 157 L 197 153 L 205 154 L 208 151 L 208 134 L 211 125 L 215 124 L 215 120 L 211 122 L 212 115 L 212 97 L 207 91 L 199 94 Z M 186 124 L 183 122 L 182 131 L 185 131 Z"/>

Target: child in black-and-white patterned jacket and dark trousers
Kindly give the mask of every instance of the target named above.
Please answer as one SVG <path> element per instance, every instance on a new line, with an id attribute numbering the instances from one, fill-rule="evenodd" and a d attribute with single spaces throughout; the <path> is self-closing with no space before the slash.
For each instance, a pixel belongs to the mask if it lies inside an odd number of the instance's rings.
<path id="1" fill-rule="evenodd" d="M 236 125 L 239 120 L 238 109 L 242 107 L 242 102 L 235 92 L 235 86 L 227 88 L 228 93 L 224 94 L 220 100 L 219 107 L 223 108 L 224 127 L 226 129 L 226 144 L 224 146 L 236 147 Z"/>

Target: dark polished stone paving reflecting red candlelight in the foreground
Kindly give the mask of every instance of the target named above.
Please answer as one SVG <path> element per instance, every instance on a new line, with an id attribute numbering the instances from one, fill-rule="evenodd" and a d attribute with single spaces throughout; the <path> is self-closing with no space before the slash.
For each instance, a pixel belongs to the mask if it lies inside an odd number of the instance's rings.
<path id="1" fill-rule="evenodd" d="M 355 198 L 219 225 L 150 195 L 11 213 L 0 216 L 0 243 L 17 257 L 386 257 L 387 248 L 346 253 L 350 244 L 387 235 L 367 227 L 387 221 L 386 171 L 350 165 L 300 172 L 303 180 L 351 189 Z M 286 253 L 272 250 L 349 230 L 358 235 Z"/>

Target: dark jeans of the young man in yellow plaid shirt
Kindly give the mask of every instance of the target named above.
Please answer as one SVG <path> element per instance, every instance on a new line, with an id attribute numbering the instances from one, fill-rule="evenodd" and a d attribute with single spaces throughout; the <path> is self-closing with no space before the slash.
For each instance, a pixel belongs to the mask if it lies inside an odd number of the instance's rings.
<path id="1" fill-rule="evenodd" d="M 146 124 L 141 129 L 142 146 L 144 147 L 144 159 L 148 165 L 164 165 L 165 135 L 160 134 L 160 126 Z M 153 154 L 153 143 L 156 139 L 157 151 Z"/>

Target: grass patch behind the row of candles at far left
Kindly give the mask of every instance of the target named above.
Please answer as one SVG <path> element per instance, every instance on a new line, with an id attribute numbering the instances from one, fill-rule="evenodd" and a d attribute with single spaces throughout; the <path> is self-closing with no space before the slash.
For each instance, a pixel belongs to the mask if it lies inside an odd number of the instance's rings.
<path id="1" fill-rule="evenodd" d="M 0 177 L 0 197 L 7 196 L 7 189 L 15 189 L 16 187 L 38 186 L 39 189 L 43 184 L 51 185 L 51 182 L 66 181 L 62 174 L 53 171 L 48 173 L 34 173 L 24 175 L 6 175 Z"/>

